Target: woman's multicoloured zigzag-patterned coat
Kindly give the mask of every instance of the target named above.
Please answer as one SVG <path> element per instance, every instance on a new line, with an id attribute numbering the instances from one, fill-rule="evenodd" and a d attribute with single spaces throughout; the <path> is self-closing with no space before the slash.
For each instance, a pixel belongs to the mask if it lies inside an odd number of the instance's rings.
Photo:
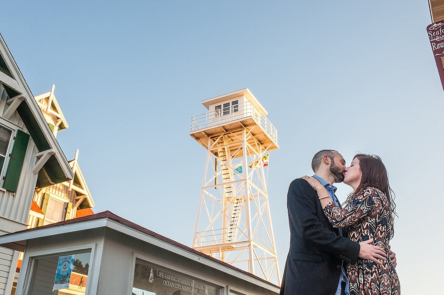
<path id="1" fill-rule="evenodd" d="M 400 294 L 398 275 L 389 258 L 393 228 L 389 209 L 385 194 L 373 187 L 366 188 L 353 199 L 347 199 L 342 209 L 334 202 L 324 208 L 334 228 L 347 227 L 350 240 L 359 243 L 373 238 L 373 244 L 384 248 L 387 255 L 382 265 L 363 259 L 358 259 L 356 264 L 346 264 L 350 295 Z"/>

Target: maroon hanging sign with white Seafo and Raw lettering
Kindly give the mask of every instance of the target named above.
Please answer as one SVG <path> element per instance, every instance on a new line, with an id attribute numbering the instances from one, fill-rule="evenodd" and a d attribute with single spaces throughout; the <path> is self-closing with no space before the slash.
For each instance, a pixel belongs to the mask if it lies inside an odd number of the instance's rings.
<path id="1" fill-rule="evenodd" d="M 440 74 L 441 85 L 444 89 L 444 21 L 427 26 L 428 39 L 435 56 L 436 67 Z"/>

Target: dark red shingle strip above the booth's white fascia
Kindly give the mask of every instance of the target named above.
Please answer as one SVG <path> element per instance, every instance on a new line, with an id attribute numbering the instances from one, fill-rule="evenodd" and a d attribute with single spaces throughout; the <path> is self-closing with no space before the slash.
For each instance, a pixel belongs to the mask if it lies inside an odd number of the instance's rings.
<path id="1" fill-rule="evenodd" d="M 249 275 L 249 276 L 251 276 L 251 277 L 253 277 L 255 279 L 258 279 L 258 280 L 261 280 L 261 281 L 263 281 L 265 283 L 268 283 L 271 286 L 279 288 L 279 286 L 276 286 L 274 283 L 270 283 L 269 281 L 267 281 L 265 279 L 259 278 L 258 276 L 253 275 L 253 274 L 251 274 L 248 271 L 244 271 L 244 270 L 242 270 L 242 269 L 240 269 L 238 267 L 235 267 L 235 266 L 233 266 L 231 264 L 227 264 L 227 263 L 225 263 L 223 261 L 220 261 L 220 260 L 218 260 L 218 259 L 216 259 L 214 257 L 208 256 L 208 255 L 206 255 L 206 254 L 204 254 L 204 253 L 202 253 L 200 251 L 194 250 L 193 248 L 190 248 L 190 247 L 188 247 L 188 246 L 186 246 L 184 244 L 180 244 L 179 242 L 171 240 L 171 239 L 167 238 L 166 236 L 159 235 L 158 233 L 153 232 L 153 231 L 151 231 L 151 230 L 149 230 L 147 228 L 144 228 L 144 227 L 140 226 L 139 224 L 135 224 L 134 222 L 126 220 L 126 219 L 124 219 L 124 218 L 122 218 L 122 217 L 120 217 L 118 215 L 115 215 L 111 211 L 103 211 L 103 212 L 96 213 L 94 215 L 83 216 L 83 217 L 79 217 L 79 218 L 75 218 L 75 219 L 71 219 L 71 220 L 63 220 L 63 221 L 59 221 L 57 223 L 43 225 L 43 226 L 39 226 L 39 227 L 36 227 L 36 228 L 28 228 L 28 229 L 24 229 L 24 230 L 17 231 L 17 232 L 12 232 L 12 233 L 6 234 L 4 236 L 11 235 L 11 234 L 16 234 L 16 233 L 19 233 L 19 232 L 29 232 L 29 231 L 39 230 L 41 228 L 51 228 L 51 227 L 55 227 L 55 226 L 59 226 L 59 225 L 74 224 L 74 223 L 83 222 L 83 221 L 96 220 L 96 219 L 100 219 L 100 218 L 110 218 L 110 219 L 115 220 L 115 221 L 117 221 L 117 222 L 119 222 L 121 224 L 125 224 L 127 226 L 130 226 L 131 228 L 139 230 L 140 232 L 144 232 L 144 233 L 146 233 L 148 235 L 155 236 L 159 240 L 163 240 L 163 241 L 165 241 L 167 243 L 176 245 L 179 248 L 182 248 L 182 249 L 184 249 L 184 250 L 186 250 L 188 252 L 192 252 L 192 253 L 194 253 L 194 254 L 196 254 L 198 256 L 201 256 L 201 257 L 204 257 L 206 259 L 212 260 L 212 261 L 214 261 L 214 262 L 216 262 L 218 264 L 222 264 L 222 265 L 224 265 L 226 267 L 232 268 L 232 269 L 234 269 L 236 271 L 239 271 L 239 272 L 242 272 L 242 273 L 244 273 L 246 275 Z"/>

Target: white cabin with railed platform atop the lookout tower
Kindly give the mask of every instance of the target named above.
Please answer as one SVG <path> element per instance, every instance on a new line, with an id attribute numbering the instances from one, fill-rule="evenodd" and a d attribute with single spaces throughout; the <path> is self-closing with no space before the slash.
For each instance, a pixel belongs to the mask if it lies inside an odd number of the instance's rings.
<path id="1" fill-rule="evenodd" d="M 254 144 L 255 138 L 269 151 L 279 149 L 277 130 L 266 118 L 267 111 L 248 88 L 203 100 L 202 105 L 209 112 L 191 118 L 190 135 L 203 147 L 208 148 L 209 139 L 218 134 L 235 130 L 242 132 L 242 129 L 252 127 L 250 144 Z M 233 136 L 230 139 L 237 142 Z M 239 144 L 241 142 L 230 146 L 230 151 L 237 150 Z"/>

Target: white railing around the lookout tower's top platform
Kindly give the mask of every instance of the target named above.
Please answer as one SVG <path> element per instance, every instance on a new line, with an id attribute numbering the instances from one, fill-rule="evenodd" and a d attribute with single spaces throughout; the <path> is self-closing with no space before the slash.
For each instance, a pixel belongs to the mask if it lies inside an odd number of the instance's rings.
<path id="1" fill-rule="evenodd" d="M 221 123 L 252 117 L 266 134 L 277 143 L 277 130 L 256 106 L 251 102 L 234 105 L 191 117 L 191 131 L 197 131 Z"/>

